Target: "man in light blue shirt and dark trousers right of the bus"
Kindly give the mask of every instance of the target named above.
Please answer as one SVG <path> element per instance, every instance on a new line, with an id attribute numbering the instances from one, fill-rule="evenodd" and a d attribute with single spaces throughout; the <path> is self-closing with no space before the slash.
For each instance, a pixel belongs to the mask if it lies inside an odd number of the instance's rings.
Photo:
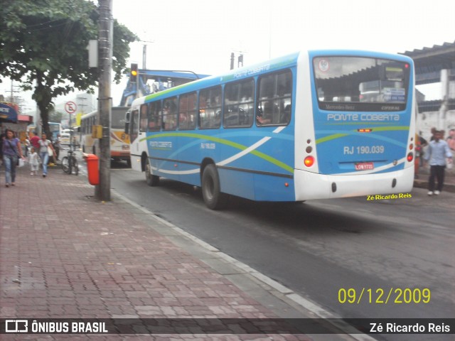
<path id="1" fill-rule="evenodd" d="M 452 154 L 449 145 L 442 139 L 442 132 L 435 131 L 434 139 L 430 141 L 425 161 L 429 162 L 430 174 L 428 179 L 428 195 L 439 195 L 444 186 L 444 172 L 446 168 L 446 158 L 452 163 Z M 435 179 L 438 185 L 435 190 Z"/>

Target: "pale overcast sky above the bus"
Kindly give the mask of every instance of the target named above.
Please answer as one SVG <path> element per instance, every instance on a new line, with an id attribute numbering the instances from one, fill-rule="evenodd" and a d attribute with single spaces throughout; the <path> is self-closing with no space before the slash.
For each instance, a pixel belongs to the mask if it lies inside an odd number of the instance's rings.
<path id="1" fill-rule="evenodd" d="M 248 65 L 297 50 L 399 53 L 455 41 L 452 0 L 113 0 L 112 11 L 153 41 L 132 43 L 130 62 L 142 67 L 146 44 L 148 69 L 210 75 L 229 70 L 237 51 Z M 112 87 L 114 105 L 126 82 Z"/>

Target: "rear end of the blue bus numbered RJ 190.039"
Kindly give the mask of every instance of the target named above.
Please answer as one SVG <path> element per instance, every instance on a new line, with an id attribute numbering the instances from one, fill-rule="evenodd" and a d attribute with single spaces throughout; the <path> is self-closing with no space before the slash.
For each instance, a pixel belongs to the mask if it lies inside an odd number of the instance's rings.
<path id="1" fill-rule="evenodd" d="M 310 52 L 298 72 L 296 200 L 407 195 L 414 181 L 412 60 Z"/>

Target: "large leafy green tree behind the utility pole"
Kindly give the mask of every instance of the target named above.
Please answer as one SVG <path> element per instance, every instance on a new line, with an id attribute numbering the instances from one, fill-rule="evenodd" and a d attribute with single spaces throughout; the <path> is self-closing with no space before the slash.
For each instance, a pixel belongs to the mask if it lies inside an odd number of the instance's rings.
<path id="1" fill-rule="evenodd" d="M 33 90 L 43 129 L 53 99 L 74 90 L 95 92 L 98 70 L 88 67 L 87 45 L 98 36 L 98 9 L 87 0 L 1 0 L 0 75 Z M 112 69 L 119 83 L 129 43 L 138 40 L 114 20 Z M 0 80 L 1 82 L 1 80 Z"/>

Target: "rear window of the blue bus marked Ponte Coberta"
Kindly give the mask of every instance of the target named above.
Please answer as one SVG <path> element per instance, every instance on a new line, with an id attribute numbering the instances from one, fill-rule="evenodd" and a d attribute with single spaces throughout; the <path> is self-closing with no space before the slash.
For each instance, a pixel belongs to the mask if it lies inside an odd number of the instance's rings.
<path id="1" fill-rule="evenodd" d="M 320 109 L 382 112 L 406 107 L 408 63 L 331 56 L 314 58 L 313 66 Z"/>

